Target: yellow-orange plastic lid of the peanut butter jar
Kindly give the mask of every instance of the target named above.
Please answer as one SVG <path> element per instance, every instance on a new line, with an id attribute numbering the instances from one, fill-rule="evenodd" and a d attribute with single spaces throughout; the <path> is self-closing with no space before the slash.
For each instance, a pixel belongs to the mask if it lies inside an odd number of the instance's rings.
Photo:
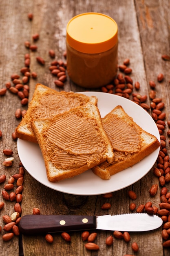
<path id="1" fill-rule="evenodd" d="M 82 13 L 73 17 L 66 27 L 66 41 L 74 49 L 84 53 L 105 52 L 118 40 L 115 20 L 102 13 Z"/>

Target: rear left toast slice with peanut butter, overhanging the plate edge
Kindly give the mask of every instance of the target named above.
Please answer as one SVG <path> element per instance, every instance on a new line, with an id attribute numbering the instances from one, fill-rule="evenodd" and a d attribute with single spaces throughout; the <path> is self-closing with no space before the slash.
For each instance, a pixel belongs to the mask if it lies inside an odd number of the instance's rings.
<path id="1" fill-rule="evenodd" d="M 40 83 L 36 84 L 33 98 L 28 110 L 16 128 L 16 136 L 20 139 L 37 143 L 31 128 L 31 120 L 36 118 L 54 117 L 64 111 L 93 102 L 97 105 L 97 97 L 88 97 L 74 92 L 57 92 Z"/>

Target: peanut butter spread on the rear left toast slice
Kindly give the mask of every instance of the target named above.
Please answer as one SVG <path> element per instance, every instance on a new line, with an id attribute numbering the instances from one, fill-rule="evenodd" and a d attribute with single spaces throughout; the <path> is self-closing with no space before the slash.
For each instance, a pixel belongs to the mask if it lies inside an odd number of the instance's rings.
<path id="1" fill-rule="evenodd" d="M 31 109 L 33 119 L 54 117 L 64 111 L 85 105 L 88 102 L 88 97 L 81 97 L 80 94 L 70 92 L 61 92 L 59 94 L 45 93 L 36 106 Z M 31 128 L 31 120 L 28 124 Z"/>

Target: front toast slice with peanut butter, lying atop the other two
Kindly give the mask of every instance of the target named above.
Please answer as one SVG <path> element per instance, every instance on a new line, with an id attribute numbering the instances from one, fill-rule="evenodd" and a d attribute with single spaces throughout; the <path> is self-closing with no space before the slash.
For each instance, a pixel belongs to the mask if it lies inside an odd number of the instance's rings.
<path id="1" fill-rule="evenodd" d="M 53 118 L 31 121 L 50 182 L 74 177 L 104 162 L 113 162 L 113 147 L 93 103 Z"/>

